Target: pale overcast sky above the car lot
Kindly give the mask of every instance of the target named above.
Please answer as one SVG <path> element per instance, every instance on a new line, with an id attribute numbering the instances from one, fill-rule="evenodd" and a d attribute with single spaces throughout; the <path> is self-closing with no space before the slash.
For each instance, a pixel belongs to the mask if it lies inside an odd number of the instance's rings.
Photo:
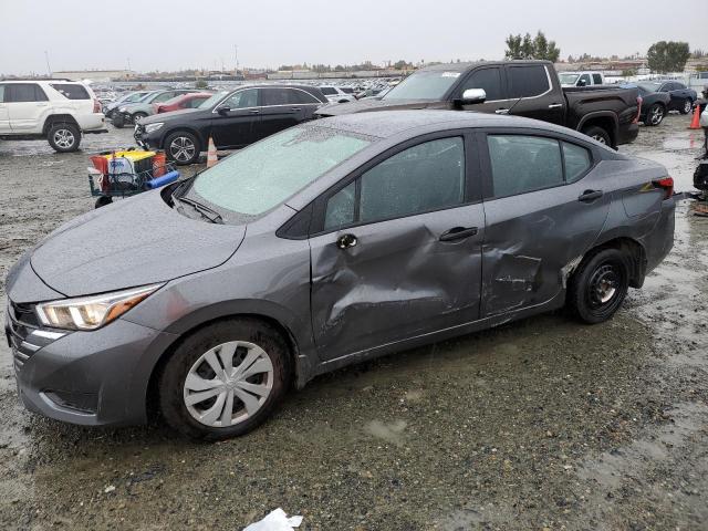
<path id="1" fill-rule="evenodd" d="M 501 59 L 509 33 L 569 54 L 708 52 L 708 0 L 0 0 L 0 74 Z"/>

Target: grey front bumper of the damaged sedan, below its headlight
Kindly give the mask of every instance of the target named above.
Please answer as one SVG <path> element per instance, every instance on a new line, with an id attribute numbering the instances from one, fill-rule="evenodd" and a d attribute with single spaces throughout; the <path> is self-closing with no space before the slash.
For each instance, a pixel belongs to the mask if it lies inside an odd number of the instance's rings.
<path id="1" fill-rule="evenodd" d="M 92 332 L 19 330 L 19 343 L 15 317 L 9 308 L 6 333 L 28 409 L 88 426 L 146 421 L 150 374 L 173 334 L 118 319 Z M 49 337 L 38 341 L 38 330 Z"/>

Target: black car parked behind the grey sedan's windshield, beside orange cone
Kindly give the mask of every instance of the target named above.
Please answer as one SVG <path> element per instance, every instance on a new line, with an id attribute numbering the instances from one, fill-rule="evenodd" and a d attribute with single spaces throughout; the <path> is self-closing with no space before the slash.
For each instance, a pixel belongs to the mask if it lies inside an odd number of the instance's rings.
<path id="1" fill-rule="evenodd" d="M 135 142 L 164 149 L 179 165 L 196 163 L 209 137 L 218 149 L 248 146 L 273 133 L 312 119 L 327 103 L 319 88 L 308 85 L 253 85 L 219 92 L 199 108 L 148 116 L 135 127 Z"/>

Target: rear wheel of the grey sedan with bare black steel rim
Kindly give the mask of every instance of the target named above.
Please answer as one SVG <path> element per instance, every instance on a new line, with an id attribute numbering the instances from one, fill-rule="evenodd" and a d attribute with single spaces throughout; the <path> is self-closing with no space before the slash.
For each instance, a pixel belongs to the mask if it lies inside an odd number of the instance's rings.
<path id="1" fill-rule="evenodd" d="M 617 249 L 600 249 L 585 257 L 570 279 L 568 309 L 589 324 L 612 317 L 629 288 L 628 262 Z"/>

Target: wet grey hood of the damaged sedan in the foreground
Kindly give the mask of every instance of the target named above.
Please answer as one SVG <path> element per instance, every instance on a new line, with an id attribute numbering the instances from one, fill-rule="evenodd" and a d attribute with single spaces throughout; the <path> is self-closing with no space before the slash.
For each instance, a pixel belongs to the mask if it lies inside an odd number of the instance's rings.
<path id="1" fill-rule="evenodd" d="M 60 227 L 34 249 L 31 264 L 48 287 L 79 296 L 216 268 L 236 252 L 244 236 L 246 226 L 180 215 L 155 190 Z"/>

